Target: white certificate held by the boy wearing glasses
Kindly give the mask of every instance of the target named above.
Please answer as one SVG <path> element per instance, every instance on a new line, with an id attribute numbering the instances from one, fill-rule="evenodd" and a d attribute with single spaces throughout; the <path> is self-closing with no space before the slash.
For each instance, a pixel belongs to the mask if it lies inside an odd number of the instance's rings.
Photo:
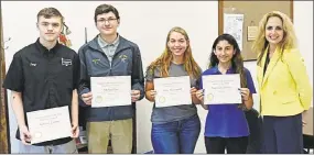
<path id="1" fill-rule="evenodd" d="M 91 107 L 131 104 L 131 76 L 90 77 Z"/>

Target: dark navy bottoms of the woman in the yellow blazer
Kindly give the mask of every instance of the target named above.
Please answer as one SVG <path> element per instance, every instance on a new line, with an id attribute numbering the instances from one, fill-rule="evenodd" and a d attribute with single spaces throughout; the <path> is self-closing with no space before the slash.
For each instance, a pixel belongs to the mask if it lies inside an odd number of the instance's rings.
<path id="1" fill-rule="evenodd" d="M 302 154 L 302 114 L 263 117 L 264 154 Z"/>

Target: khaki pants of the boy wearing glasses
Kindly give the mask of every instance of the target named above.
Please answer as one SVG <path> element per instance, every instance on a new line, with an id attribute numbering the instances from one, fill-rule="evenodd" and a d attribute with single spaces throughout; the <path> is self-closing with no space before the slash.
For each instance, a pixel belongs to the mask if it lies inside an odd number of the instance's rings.
<path id="1" fill-rule="evenodd" d="M 130 154 L 132 151 L 132 119 L 88 122 L 88 153 L 106 154 L 111 140 L 115 154 Z"/>

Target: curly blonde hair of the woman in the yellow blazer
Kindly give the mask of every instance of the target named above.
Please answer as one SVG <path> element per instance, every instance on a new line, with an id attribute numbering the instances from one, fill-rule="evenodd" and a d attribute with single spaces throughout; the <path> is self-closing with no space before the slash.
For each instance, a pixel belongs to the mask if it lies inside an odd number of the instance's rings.
<path id="1" fill-rule="evenodd" d="M 266 33 L 266 24 L 268 20 L 272 16 L 279 18 L 282 21 L 282 26 L 283 26 L 283 38 L 279 43 L 280 51 L 281 51 L 280 58 L 282 58 L 282 54 L 284 49 L 296 47 L 296 36 L 295 36 L 293 23 L 290 20 L 290 18 L 280 11 L 271 11 L 264 14 L 263 18 L 261 19 L 259 23 L 258 35 L 252 45 L 252 51 L 258 54 L 258 65 L 260 65 L 264 51 L 269 46 L 269 43 L 266 40 L 264 33 Z"/>

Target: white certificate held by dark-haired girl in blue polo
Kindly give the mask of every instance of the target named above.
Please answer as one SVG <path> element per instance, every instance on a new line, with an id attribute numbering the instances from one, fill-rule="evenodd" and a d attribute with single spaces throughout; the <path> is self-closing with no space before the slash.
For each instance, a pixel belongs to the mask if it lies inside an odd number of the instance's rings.
<path id="1" fill-rule="evenodd" d="M 240 75 L 202 76 L 205 104 L 241 103 Z"/>

